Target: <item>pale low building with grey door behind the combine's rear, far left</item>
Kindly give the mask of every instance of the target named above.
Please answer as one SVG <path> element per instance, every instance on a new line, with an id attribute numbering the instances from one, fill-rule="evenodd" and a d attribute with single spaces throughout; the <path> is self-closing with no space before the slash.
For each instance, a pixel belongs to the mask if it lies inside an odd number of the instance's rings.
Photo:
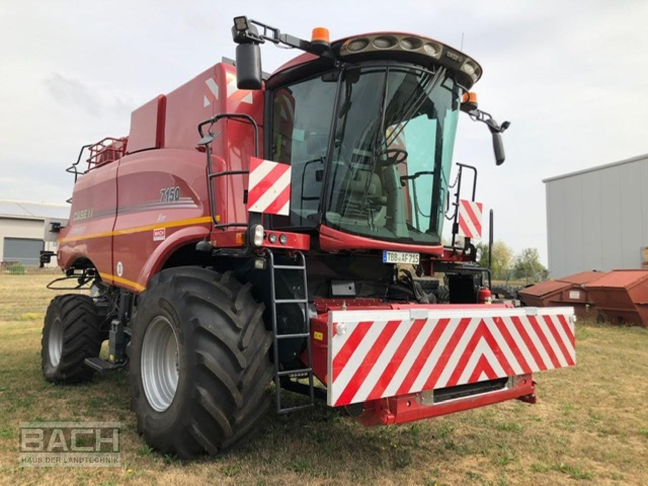
<path id="1" fill-rule="evenodd" d="M 41 249 L 56 251 L 56 243 L 43 241 L 45 219 L 63 221 L 69 215 L 67 204 L 0 200 L 0 262 L 38 265 Z"/>

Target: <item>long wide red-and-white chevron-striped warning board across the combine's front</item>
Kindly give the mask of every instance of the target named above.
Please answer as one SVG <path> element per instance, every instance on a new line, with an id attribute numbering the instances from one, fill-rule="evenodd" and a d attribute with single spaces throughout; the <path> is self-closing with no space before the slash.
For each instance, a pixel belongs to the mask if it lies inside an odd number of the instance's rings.
<path id="1" fill-rule="evenodd" d="M 573 366 L 573 308 L 336 310 L 329 406 Z"/>

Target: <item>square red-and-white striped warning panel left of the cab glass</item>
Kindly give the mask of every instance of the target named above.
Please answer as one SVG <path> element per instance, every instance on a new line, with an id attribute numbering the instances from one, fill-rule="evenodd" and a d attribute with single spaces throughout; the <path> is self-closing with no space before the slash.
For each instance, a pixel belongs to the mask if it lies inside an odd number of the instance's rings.
<path id="1" fill-rule="evenodd" d="M 288 216 L 290 165 L 249 159 L 248 211 Z"/>

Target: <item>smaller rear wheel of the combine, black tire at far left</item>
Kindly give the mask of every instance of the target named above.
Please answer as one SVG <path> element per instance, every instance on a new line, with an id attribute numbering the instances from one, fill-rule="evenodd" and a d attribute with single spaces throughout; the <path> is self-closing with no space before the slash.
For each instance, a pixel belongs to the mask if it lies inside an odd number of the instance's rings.
<path id="1" fill-rule="evenodd" d="M 91 380 L 94 371 L 84 360 L 99 356 L 104 341 L 100 326 L 97 307 L 87 295 L 54 297 L 47 307 L 41 340 L 45 380 L 56 384 Z"/>

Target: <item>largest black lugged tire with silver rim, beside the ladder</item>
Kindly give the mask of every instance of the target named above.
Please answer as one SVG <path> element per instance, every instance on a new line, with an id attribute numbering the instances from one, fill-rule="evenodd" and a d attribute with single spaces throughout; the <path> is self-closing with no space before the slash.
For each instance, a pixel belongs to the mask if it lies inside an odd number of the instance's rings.
<path id="1" fill-rule="evenodd" d="M 179 267 L 140 297 L 130 343 L 137 426 L 164 454 L 218 454 L 258 432 L 270 397 L 264 306 L 233 273 Z"/>

